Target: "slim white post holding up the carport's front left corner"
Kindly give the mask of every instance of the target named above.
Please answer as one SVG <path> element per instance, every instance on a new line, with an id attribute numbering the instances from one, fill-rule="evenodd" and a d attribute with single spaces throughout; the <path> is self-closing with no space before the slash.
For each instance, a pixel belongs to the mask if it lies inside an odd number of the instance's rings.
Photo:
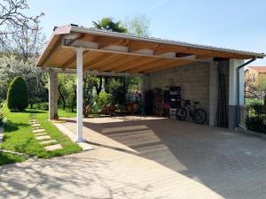
<path id="1" fill-rule="evenodd" d="M 83 49 L 77 48 L 76 51 L 76 71 L 77 71 L 77 95 L 76 95 L 76 142 L 83 142 Z"/>

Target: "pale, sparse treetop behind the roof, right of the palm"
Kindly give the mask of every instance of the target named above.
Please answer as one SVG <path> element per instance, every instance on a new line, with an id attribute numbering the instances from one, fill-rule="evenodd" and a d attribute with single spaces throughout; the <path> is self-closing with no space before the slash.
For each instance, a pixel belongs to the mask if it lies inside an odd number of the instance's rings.
<path id="1" fill-rule="evenodd" d="M 128 17 L 125 20 L 124 27 L 128 29 L 129 34 L 137 36 L 150 35 L 150 20 L 145 15 L 136 15 Z"/>

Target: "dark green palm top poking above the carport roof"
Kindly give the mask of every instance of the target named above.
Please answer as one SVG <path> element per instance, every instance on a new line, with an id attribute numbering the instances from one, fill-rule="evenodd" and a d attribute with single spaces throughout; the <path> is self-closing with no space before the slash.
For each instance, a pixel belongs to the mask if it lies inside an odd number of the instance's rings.
<path id="1" fill-rule="evenodd" d="M 127 28 L 121 26 L 121 21 L 113 21 L 113 18 L 103 18 L 96 21 L 92 21 L 93 27 L 101 30 L 126 33 Z"/>

